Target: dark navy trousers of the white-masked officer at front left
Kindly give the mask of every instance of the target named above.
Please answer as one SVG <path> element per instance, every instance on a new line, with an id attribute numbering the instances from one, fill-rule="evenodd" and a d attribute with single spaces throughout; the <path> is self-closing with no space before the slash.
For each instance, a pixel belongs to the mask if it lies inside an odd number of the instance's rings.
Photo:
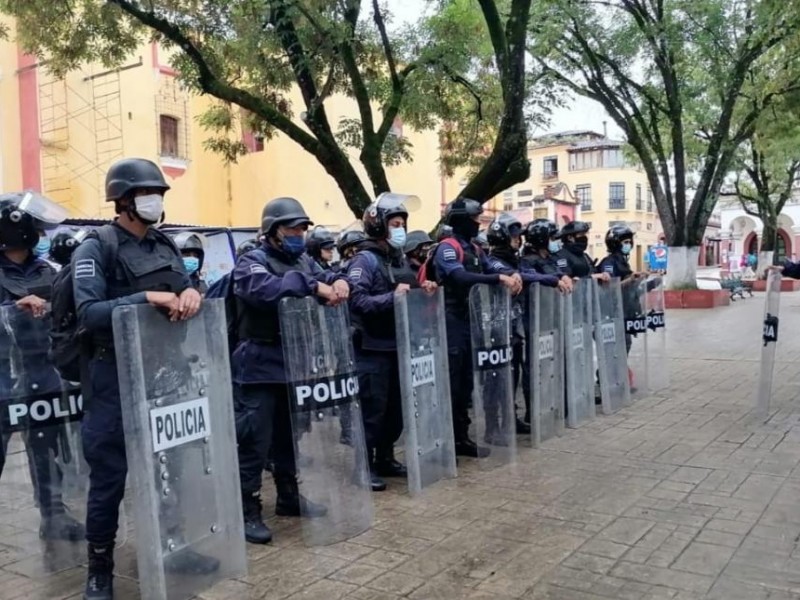
<path id="1" fill-rule="evenodd" d="M 106 545 L 117 535 L 128 461 L 114 358 L 92 359 L 89 375 L 91 402 L 81 425 L 83 454 L 90 469 L 86 540 Z"/>

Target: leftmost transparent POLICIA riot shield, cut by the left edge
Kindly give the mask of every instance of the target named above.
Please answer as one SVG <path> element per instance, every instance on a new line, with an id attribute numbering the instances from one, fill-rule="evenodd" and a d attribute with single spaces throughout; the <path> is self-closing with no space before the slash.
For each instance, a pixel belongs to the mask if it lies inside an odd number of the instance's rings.
<path id="1" fill-rule="evenodd" d="M 86 556 L 83 400 L 48 358 L 49 332 L 48 318 L 0 307 L 0 565 L 34 581 Z"/>

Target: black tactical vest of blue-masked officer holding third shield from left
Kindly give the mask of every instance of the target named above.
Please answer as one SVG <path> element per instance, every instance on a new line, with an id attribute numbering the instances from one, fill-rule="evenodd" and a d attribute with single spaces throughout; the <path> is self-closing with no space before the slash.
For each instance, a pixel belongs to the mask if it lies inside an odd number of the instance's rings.
<path id="1" fill-rule="evenodd" d="M 257 250 L 259 262 L 266 267 L 267 271 L 278 277 L 283 277 L 289 271 L 300 271 L 306 275 L 313 275 L 311 259 L 305 254 L 285 262 L 278 256 L 267 253 L 264 250 Z M 278 303 L 275 302 L 270 307 L 255 308 L 247 304 L 244 300 L 236 297 L 237 312 L 239 320 L 239 339 L 250 340 L 260 344 L 277 344 L 280 341 L 281 327 L 278 312 Z"/>

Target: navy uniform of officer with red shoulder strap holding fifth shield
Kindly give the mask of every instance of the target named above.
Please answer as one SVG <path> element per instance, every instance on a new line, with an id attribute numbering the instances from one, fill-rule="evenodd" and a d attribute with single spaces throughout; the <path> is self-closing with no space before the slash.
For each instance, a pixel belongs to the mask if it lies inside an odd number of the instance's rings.
<path id="1" fill-rule="evenodd" d="M 433 255 L 439 285 L 445 293 L 447 352 L 450 368 L 450 399 L 456 443 L 468 440 L 469 406 L 472 401 L 472 340 L 469 323 L 469 290 L 481 283 L 499 284 L 500 275 L 486 273 L 489 261 L 468 240 L 450 238 L 463 250 L 463 259 L 448 243 L 440 243 Z"/>

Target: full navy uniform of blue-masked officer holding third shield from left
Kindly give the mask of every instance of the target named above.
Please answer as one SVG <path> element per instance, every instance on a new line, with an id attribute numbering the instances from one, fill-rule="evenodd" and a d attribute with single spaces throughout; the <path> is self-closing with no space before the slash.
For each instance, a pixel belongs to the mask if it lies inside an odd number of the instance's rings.
<path id="1" fill-rule="evenodd" d="M 276 481 L 295 477 L 278 305 L 283 298 L 316 295 L 320 281 L 332 284 L 340 278 L 323 271 L 307 255 L 294 258 L 268 244 L 236 261 L 233 283 L 240 341 L 231 365 L 239 473 L 245 497 L 261 490 L 261 473 L 270 451 Z"/>

